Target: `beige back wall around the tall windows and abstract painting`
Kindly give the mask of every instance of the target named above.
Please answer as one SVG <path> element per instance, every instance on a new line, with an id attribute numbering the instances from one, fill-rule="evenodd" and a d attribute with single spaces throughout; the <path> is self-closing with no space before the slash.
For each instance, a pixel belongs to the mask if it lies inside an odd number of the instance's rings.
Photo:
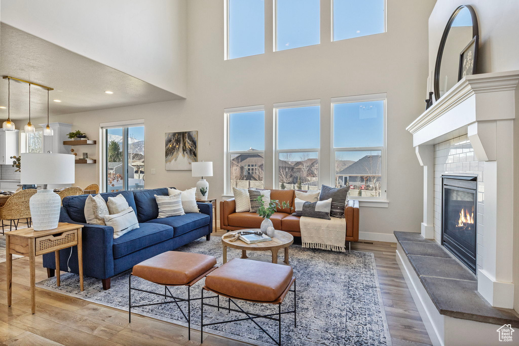
<path id="1" fill-rule="evenodd" d="M 215 174 L 207 178 L 210 197 L 221 199 L 225 108 L 265 105 L 265 165 L 270 172 L 274 167 L 274 103 L 321 99 L 321 162 L 330 163 L 331 98 L 386 92 L 389 206 L 362 208 L 360 237 L 391 241 L 394 230 L 419 231 L 422 170 L 412 136 L 405 128 L 425 107 L 427 19 L 434 0 L 388 0 L 387 33 L 337 42 L 330 41 L 330 3 L 321 1 L 320 45 L 272 52 L 272 8 L 267 1 L 266 53 L 224 61 L 223 2 L 189 1 L 187 100 L 52 117 L 51 121 L 73 123 L 73 130 L 99 139 L 101 122 L 144 118 L 149 188 L 188 188 L 196 184 L 191 172 L 165 170 L 164 140 L 165 132 L 198 130 L 199 159 L 214 162 Z M 100 157 L 99 153 L 89 155 Z M 99 181 L 98 165 L 78 166 L 77 185 Z M 155 175 L 149 173 L 153 168 Z M 321 178 L 323 184 L 331 184 L 331 164 L 321 164 Z M 267 187 L 273 182 L 274 177 L 267 175 Z"/>

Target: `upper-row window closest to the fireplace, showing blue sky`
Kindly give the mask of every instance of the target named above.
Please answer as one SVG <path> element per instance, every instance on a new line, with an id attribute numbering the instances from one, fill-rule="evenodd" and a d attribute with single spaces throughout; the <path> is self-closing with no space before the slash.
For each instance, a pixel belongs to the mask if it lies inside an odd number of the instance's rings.
<path id="1" fill-rule="evenodd" d="M 386 31 L 385 0 L 332 0 L 333 40 Z"/>

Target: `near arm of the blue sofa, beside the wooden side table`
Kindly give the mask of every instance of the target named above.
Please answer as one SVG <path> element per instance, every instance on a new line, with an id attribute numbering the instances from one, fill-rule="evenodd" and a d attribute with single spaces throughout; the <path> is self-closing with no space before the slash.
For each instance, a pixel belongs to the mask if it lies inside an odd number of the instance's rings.
<path id="1" fill-rule="evenodd" d="M 83 225 L 81 238 L 83 240 L 83 271 L 85 276 L 93 276 L 98 279 L 107 279 L 114 275 L 113 240 L 114 228 L 102 225 L 90 225 L 75 222 L 61 207 L 60 222 Z M 67 259 L 70 250 L 61 250 L 61 258 Z M 63 260 L 62 260 L 63 261 Z M 56 269 L 54 253 L 45 254 L 43 258 L 45 268 Z M 63 268 L 63 263 L 62 263 Z M 74 254 L 70 258 L 72 272 L 78 273 L 77 246 L 74 246 Z"/>

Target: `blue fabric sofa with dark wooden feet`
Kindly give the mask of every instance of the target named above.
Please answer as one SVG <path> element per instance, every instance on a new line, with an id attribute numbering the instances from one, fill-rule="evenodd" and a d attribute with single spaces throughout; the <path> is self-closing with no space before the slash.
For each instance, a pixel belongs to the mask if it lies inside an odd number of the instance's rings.
<path id="1" fill-rule="evenodd" d="M 212 232 L 213 208 L 209 203 L 197 203 L 200 213 L 181 216 L 158 217 L 154 195 L 167 196 L 168 189 L 132 190 L 101 193 L 108 197 L 122 195 L 133 208 L 139 228 L 114 239 L 110 226 L 89 225 L 85 220 L 87 195 L 69 196 L 63 199 L 60 222 L 84 225 L 83 227 L 83 273 L 102 280 L 103 288 L 110 288 L 110 278 L 132 268 L 139 262 L 160 253 L 174 250 L 200 237 L 209 240 Z M 70 248 L 60 251 L 60 270 L 67 271 Z M 43 255 L 43 266 L 49 277 L 54 276 L 56 261 L 54 253 Z M 72 248 L 69 267 L 79 273 L 77 246 Z"/>

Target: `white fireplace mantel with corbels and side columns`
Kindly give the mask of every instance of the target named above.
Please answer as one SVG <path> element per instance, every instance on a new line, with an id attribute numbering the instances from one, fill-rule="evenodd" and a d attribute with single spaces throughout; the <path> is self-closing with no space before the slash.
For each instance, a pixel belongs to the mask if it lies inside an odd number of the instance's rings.
<path id="1" fill-rule="evenodd" d="M 467 134 L 477 160 L 485 161 L 484 262 L 477 272 L 478 292 L 491 305 L 509 309 L 514 307 L 514 192 L 519 193 L 512 183 L 518 84 L 519 71 L 467 76 L 406 128 L 424 167 L 425 238 L 434 238 L 434 144 Z"/>

